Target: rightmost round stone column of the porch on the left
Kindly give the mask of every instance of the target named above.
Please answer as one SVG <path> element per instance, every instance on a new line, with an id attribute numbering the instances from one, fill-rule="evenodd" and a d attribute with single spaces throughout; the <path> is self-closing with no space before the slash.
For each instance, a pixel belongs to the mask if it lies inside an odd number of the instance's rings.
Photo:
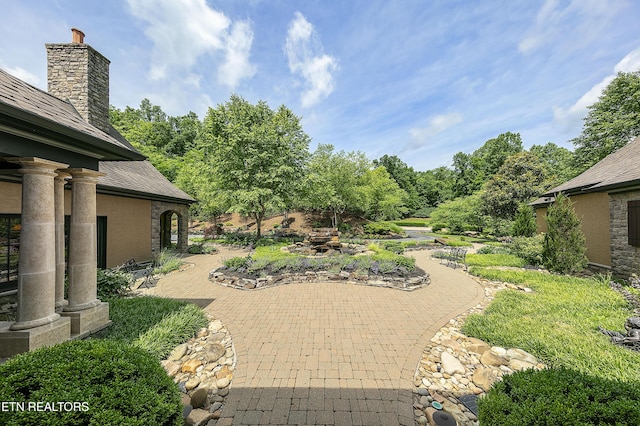
<path id="1" fill-rule="evenodd" d="M 64 312 L 100 305 L 97 298 L 96 182 L 103 173 L 66 169 L 71 174 L 71 227 L 69 230 L 69 304 Z M 73 333 L 73 322 L 72 322 Z"/>

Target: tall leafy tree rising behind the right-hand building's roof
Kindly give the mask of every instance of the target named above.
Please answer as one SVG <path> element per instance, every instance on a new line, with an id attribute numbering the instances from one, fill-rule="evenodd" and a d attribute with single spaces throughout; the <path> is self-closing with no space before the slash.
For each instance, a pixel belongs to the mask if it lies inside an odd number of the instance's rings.
<path id="1" fill-rule="evenodd" d="M 573 139 L 582 172 L 640 136 L 640 71 L 620 72 L 589 107 L 582 133 Z"/>

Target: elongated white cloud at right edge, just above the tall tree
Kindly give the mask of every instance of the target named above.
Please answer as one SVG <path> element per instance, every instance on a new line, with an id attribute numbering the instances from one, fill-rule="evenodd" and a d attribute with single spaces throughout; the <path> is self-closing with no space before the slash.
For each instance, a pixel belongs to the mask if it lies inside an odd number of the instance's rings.
<path id="1" fill-rule="evenodd" d="M 593 105 L 602 95 L 602 91 L 619 72 L 633 72 L 640 69 L 640 48 L 628 53 L 613 67 L 613 73 L 593 85 L 584 95 L 568 108 L 553 107 L 553 118 L 556 124 L 569 129 L 579 123 L 587 115 L 588 107 Z"/>

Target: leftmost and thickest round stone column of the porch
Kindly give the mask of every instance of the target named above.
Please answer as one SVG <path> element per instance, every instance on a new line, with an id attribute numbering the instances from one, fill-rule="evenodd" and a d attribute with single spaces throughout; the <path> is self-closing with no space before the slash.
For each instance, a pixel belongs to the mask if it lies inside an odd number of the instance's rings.
<path id="1" fill-rule="evenodd" d="M 21 166 L 22 217 L 18 269 L 18 318 L 10 330 L 55 322 L 55 170 L 66 164 L 39 158 L 6 158 Z"/>

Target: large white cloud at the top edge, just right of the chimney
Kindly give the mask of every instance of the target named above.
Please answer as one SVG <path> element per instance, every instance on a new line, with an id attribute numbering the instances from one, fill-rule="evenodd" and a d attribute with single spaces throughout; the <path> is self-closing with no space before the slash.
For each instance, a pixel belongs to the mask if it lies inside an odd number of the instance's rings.
<path id="1" fill-rule="evenodd" d="M 236 22 L 211 9 L 205 0 L 128 0 L 131 13 L 148 26 L 145 34 L 153 42 L 152 80 L 175 79 L 187 73 L 206 54 L 224 52 L 218 79 L 234 88 L 253 76 L 249 62 L 253 32 L 246 22 Z M 192 77 L 189 77 L 192 81 Z"/>

